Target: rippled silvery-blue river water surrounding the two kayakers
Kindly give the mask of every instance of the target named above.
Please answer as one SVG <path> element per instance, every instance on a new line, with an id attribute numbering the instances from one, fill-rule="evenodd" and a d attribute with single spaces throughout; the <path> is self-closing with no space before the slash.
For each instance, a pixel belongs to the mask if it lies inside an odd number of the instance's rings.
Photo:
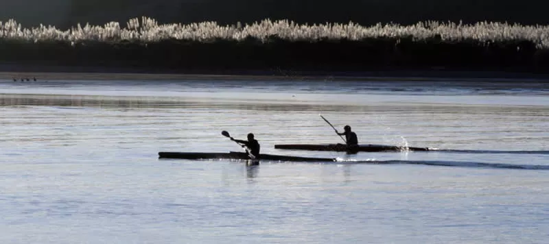
<path id="1" fill-rule="evenodd" d="M 0 81 L 1 243 L 547 243 L 549 83 Z M 348 156 L 274 149 L 430 147 Z M 163 160 L 261 152 L 340 162 Z"/>

